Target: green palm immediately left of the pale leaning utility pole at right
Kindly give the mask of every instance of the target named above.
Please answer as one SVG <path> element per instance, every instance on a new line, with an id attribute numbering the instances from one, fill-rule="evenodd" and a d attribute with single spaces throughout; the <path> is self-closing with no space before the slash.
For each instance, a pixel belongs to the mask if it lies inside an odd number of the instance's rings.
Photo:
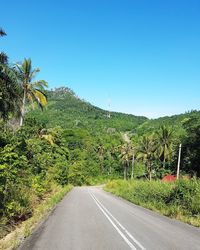
<path id="1" fill-rule="evenodd" d="M 165 168 L 165 164 L 167 161 L 170 161 L 174 150 L 174 130 L 162 125 L 156 131 L 156 135 L 158 140 L 158 154 L 161 158 L 163 168 Z"/>

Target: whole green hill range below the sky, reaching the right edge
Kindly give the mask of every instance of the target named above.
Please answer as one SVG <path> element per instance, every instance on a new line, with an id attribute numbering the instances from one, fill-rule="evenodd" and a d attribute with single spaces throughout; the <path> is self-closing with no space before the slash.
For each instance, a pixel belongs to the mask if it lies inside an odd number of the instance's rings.
<path id="1" fill-rule="evenodd" d="M 170 125 L 182 133 L 182 124 L 199 111 L 148 119 L 118 112 L 109 112 L 80 99 L 69 88 L 61 87 L 47 92 L 48 105 L 43 112 L 31 110 L 28 117 L 35 117 L 47 127 L 79 128 L 91 132 L 133 131 L 139 135 L 155 131 L 160 125 Z M 110 118 L 109 118 L 110 115 Z"/>

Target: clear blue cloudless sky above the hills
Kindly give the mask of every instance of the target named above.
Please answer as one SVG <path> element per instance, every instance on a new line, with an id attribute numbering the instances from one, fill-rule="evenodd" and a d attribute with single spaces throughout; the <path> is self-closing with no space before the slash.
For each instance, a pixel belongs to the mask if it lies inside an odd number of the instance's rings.
<path id="1" fill-rule="evenodd" d="M 2 0 L 0 27 L 50 88 L 150 118 L 199 109 L 199 0 Z"/>

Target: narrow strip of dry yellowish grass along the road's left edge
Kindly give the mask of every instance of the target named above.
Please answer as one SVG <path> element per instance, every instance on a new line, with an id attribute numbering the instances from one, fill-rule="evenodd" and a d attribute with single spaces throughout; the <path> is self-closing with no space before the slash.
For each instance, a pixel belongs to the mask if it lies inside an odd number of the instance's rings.
<path id="1" fill-rule="evenodd" d="M 0 250 L 16 249 L 22 240 L 32 233 L 34 228 L 48 215 L 55 205 L 62 200 L 72 187 L 72 185 L 65 187 L 56 186 L 51 196 L 37 206 L 31 218 L 24 221 L 13 232 L 0 240 Z"/>

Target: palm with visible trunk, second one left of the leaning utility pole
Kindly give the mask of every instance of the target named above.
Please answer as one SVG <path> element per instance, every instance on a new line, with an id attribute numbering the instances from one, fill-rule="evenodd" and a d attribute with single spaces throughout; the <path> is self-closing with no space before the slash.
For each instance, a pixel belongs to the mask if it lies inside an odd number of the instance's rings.
<path id="1" fill-rule="evenodd" d="M 155 140 L 149 136 L 143 136 L 137 148 L 137 159 L 142 159 L 147 168 L 149 180 L 152 179 L 152 161 L 155 157 L 157 145 Z"/>

